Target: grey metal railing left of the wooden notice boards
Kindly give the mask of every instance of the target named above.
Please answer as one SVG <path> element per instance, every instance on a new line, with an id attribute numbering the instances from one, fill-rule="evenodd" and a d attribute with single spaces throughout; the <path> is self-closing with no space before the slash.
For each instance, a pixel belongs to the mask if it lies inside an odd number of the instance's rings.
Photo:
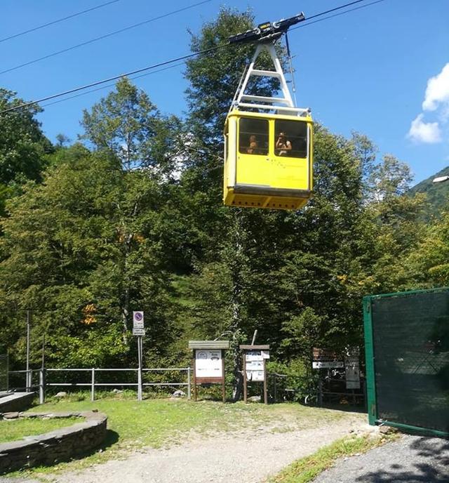
<path id="1" fill-rule="evenodd" d="M 25 374 L 25 389 L 27 392 L 32 390 L 39 390 L 39 402 L 43 404 L 46 397 L 46 388 L 50 387 L 69 387 L 69 388 L 91 388 L 91 401 L 95 400 L 95 388 L 121 388 L 121 387 L 135 387 L 138 389 L 138 394 L 142 394 L 142 388 L 146 387 L 180 387 L 187 386 L 187 397 L 192 397 L 192 368 L 190 367 L 170 367 L 170 368 L 143 368 L 141 373 L 163 373 L 167 371 L 177 371 L 180 373 L 187 373 L 187 381 L 185 382 L 142 382 L 142 377 L 139 376 L 138 368 L 123 368 L 123 369 L 109 369 L 109 368 L 70 368 L 70 369 L 29 369 L 24 371 L 9 371 L 9 374 Z M 89 382 L 48 382 L 50 373 L 71 373 L 71 372 L 86 372 L 91 374 Z M 105 372 L 135 372 L 135 382 L 98 382 L 98 373 Z M 33 384 L 33 377 L 38 376 L 39 380 Z M 18 386 L 15 387 L 16 389 Z M 22 387 L 20 387 L 22 389 Z"/>

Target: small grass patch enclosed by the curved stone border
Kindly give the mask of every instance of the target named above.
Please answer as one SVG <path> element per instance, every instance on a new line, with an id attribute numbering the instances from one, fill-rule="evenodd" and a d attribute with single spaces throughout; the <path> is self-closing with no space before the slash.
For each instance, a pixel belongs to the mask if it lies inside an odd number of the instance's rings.
<path id="1" fill-rule="evenodd" d="M 0 443 L 15 441 L 32 435 L 42 435 L 44 432 L 81 423 L 84 418 L 62 419 L 3 419 L 0 421 Z"/>

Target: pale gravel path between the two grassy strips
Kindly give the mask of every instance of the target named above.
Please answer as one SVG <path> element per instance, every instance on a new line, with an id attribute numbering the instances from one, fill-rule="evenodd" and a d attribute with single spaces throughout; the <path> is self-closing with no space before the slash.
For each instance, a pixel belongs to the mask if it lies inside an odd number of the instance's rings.
<path id="1" fill-rule="evenodd" d="M 168 449 L 145 449 L 126 459 L 108 461 L 79 472 L 51 475 L 57 483 L 260 483 L 297 458 L 368 428 L 366 416 L 349 413 L 326 427 L 194 437 Z M 34 483 L 0 477 L 4 483 Z"/>

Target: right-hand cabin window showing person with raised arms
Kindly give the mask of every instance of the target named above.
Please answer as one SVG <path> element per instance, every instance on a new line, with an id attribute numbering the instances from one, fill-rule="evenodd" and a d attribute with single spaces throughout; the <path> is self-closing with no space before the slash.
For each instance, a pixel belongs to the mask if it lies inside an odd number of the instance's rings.
<path id="1" fill-rule="evenodd" d="M 276 156 L 307 158 L 307 122 L 276 120 L 274 132 Z"/>

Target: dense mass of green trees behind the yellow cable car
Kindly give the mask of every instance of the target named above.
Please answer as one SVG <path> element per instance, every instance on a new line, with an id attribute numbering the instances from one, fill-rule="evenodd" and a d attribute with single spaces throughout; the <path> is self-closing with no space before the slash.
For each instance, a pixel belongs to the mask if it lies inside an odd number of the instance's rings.
<path id="1" fill-rule="evenodd" d="M 224 10 L 192 51 L 250 27 Z M 185 119 L 126 78 L 80 113 L 72 145 L 51 145 L 38 108 L 0 117 L 0 348 L 13 365 L 32 310 L 33 364 L 45 334 L 48 366 L 129 367 L 130 315 L 144 310 L 147 366 L 186 364 L 189 339 L 235 348 L 255 329 L 275 360 L 301 366 L 314 346 L 363 345 L 364 295 L 448 283 L 449 217 L 424 222 L 408 166 L 364 135 L 316 125 L 301 211 L 222 206 L 222 126 L 251 51 L 187 62 Z M 0 91 L 1 109 L 20 102 Z"/>

